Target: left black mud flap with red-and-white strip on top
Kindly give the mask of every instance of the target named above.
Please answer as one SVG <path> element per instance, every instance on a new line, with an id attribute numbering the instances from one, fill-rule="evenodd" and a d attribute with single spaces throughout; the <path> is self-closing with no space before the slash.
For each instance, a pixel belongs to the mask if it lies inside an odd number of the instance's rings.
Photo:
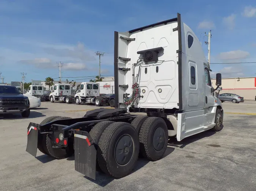
<path id="1" fill-rule="evenodd" d="M 38 140 L 38 132 L 39 132 L 40 125 L 36 123 L 29 123 L 28 125 L 28 142 L 26 151 L 31 154 L 32 156 L 36 157 L 37 152 L 37 140 Z"/>

